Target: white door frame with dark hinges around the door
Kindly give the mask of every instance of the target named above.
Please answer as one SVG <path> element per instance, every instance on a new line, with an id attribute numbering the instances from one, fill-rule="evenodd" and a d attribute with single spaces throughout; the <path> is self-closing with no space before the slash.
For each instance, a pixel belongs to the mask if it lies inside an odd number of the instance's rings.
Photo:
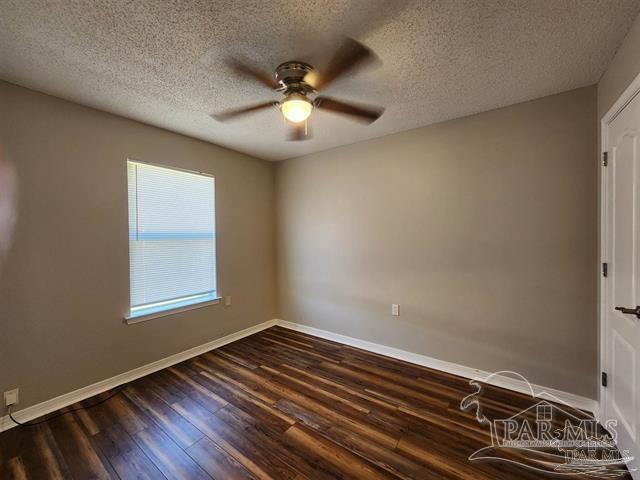
<path id="1" fill-rule="evenodd" d="M 597 385 L 598 390 L 598 410 L 600 415 L 604 414 L 605 400 L 607 395 L 607 389 L 602 386 L 601 374 L 605 371 L 606 363 L 606 295 L 607 295 L 607 279 L 602 274 L 602 264 L 607 262 L 607 207 L 608 196 L 607 186 L 609 180 L 608 167 L 603 168 L 602 159 L 604 152 L 609 151 L 608 145 L 608 133 L 609 125 L 616 117 L 624 110 L 624 108 L 631 103 L 631 101 L 640 95 L 640 74 L 633 79 L 629 86 L 622 92 L 622 95 L 616 100 L 613 106 L 603 115 L 600 119 L 600 152 L 598 155 L 598 175 L 600 177 L 600 225 L 599 225 L 599 241 L 600 241 L 600 255 L 598 262 L 598 327 L 599 327 L 599 355 L 598 355 L 598 372 L 597 372 Z M 603 420 L 600 418 L 600 420 Z"/>

